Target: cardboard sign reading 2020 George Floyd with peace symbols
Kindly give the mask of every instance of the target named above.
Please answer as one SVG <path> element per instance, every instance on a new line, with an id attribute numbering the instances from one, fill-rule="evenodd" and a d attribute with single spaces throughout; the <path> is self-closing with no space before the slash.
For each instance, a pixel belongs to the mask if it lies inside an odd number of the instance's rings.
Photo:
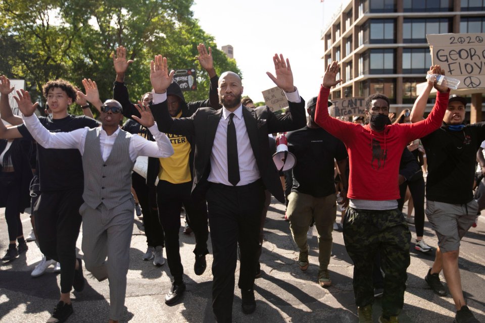
<path id="1" fill-rule="evenodd" d="M 485 87 L 485 33 L 426 35 L 431 62 L 446 76 L 460 80 L 458 88 Z"/>

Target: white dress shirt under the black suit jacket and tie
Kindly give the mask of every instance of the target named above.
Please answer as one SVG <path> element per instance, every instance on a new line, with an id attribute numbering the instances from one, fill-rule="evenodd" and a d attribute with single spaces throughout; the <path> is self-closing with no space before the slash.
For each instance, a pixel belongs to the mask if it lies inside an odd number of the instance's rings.
<path id="1" fill-rule="evenodd" d="M 295 92 L 286 93 L 286 98 L 290 102 L 301 102 L 298 89 Z M 161 103 L 167 99 L 167 93 L 157 94 L 153 93 L 153 103 Z M 257 181 L 261 178 L 258 165 L 256 164 L 256 158 L 254 157 L 253 148 L 249 141 L 248 131 L 246 130 L 246 124 L 243 117 L 243 105 L 233 112 L 234 117 L 232 121 L 236 128 L 237 138 L 237 157 L 239 160 L 239 183 L 236 186 L 247 185 Z M 228 186 L 233 186 L 229 183 L 229 177 L 227 174 L 227 125 L 229 122 L 229 115 L 231 112 L 222 107 L 222 118 L 217 126 L 216 136 L 214 138 L 214 144 L 212 145 L 211 153 L 211 173 L 207 180 L 212 183 L 220 183 Z"/>

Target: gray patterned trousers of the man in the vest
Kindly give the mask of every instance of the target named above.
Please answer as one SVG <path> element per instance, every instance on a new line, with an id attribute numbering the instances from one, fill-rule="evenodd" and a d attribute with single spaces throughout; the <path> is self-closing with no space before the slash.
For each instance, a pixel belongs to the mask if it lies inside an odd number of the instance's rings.
<path id="1" fill-rule="evenodd" d="M 93 209 L 84 203 L 79 208 L 82 216 L 82 252 L 85 267 L 99 281 L 108 278 L 109 318 L 113 320 L 121 318 L 125 304 L 133 212 L 133 199 L 111 210 L 104 204 Z"/>

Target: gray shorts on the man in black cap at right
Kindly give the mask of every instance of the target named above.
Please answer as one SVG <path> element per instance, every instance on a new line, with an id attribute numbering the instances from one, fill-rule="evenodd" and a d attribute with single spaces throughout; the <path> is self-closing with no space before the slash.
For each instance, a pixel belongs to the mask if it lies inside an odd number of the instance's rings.
<path id="1" fill-rule="evenodd" d="M 426 201 L 426 218 L 436 231 L 442 252 L 460 248 L 460 240 L 475 222 L 477 211 L 478 203 L 475 200 L 467 204 Z"/>

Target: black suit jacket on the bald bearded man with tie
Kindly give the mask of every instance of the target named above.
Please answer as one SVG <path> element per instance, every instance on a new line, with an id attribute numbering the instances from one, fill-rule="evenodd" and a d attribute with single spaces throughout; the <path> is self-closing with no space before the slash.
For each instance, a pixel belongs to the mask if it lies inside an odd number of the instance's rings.
<path id="1" fill-rule="evenodd" d="M 210 156 L 222 109 L 216 111 L 204 107 L 189 118 L 172 119 L 165 100 L 151 105 L 151 110 L 161 132 L 195 136 L 192 197 L 204 198 L 209 187 L 207 178 L 211 171 Z M 303 128 L 307 123 L 305 101 L 289 102 L 289 112 L 285 115 L 275 115 L 267 106 L 250 109 L 243 105 L 243 117 L 261 179 L 271 194 L 284 203 L 283 188 L 271 156 L 268 134 Z"/>

